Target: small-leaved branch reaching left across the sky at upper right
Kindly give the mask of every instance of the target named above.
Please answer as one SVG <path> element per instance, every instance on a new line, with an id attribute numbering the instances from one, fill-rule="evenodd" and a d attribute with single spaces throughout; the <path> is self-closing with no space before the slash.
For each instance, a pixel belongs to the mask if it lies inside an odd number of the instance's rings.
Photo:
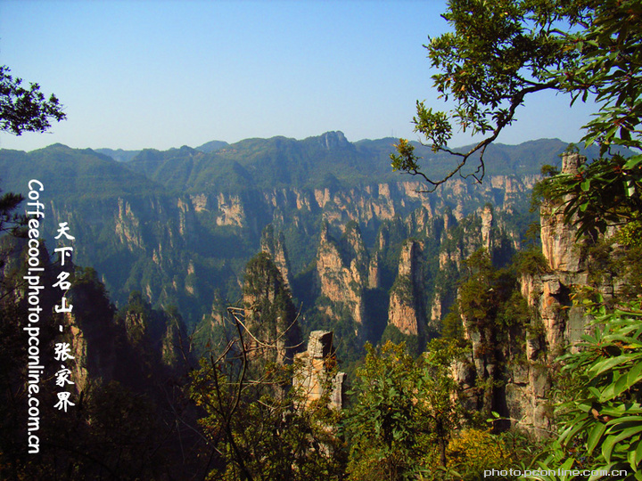
<path id="1" fill-rule="evenodd" d="M 435 88 L 445 101 L 452 97 L 456 107 L 447 113 L 417 102 L 413 123 L 433 151 L 456 156 L 457 165 L 441 180 L 432 180 L 419 170 L 413 149 L 401 139 L 398 153 L 391 154 L 394 169 L 421 175 L 434 190 L 461 173 L 467 160 L 479 152 L 479 167 L 469 175 L 481 180 L 484 151 L 514 121 L 515 110 L 524 97 L 556 88 L 558 81 L 550 72 L 575 64 L 578 54 L 558 41 L 556 25 L 562 20 L 572 25 L 576 18 L 570 14 L 571 9 L 562 8 L 561 2 L 553 4 L 507 0 L 449 3 L 448 12 L 442 16 L 455 31 L 431 38 L 424 47 L 432 67 L 440 70 L 432 76 Z M 490 136 L 469 151 L 451 151 L 451 120 L 464 132 Z"/>

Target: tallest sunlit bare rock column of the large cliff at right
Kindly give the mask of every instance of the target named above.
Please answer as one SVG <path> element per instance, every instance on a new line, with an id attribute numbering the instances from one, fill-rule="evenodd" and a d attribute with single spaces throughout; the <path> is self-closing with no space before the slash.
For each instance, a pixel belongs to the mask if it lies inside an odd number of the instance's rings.
<path id="1" fill-rule="evenodd" d="M 586 159 L 579 154 L 565 154 L 562 171 L 577 173 Z M 526 360 L 508 369 L 506 406 L 518 426 L 535 436 L 547 436 L 552 426 L 550 366 L 569 343 L 585 332 L 588 320 L 579 306 L 573 306 L 572 290 L 588 283 L 585 259 L 576 240 L 577 229 L 564 224 L 561 213 L 550 203 L 542 205 L 541 242 L 549 272 L 524 274 L 520 279 L 523 298 L 535 317 L 526 336 Z"/>

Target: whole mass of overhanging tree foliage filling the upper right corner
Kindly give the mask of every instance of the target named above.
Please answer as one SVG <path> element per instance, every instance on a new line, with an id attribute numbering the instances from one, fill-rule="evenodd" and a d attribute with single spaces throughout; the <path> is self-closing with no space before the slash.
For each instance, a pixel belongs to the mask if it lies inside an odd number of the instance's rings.
<path id="1" fill-rule="evenodd" d="M 579 175 L 556 178 L 567 220 L 580 233 L 609 224 L 639 222 L 642 204 L 642 5 L 637 0 L 451 0 L 443 17 L 454 31 L 427 45 L 435 88 L 455 107 L 432 111 L 417 102 L 413 119 L 434 151 L 457 163 L 442 179 L 425 175 L 414 146 L 399 140 L 392 167 L 421 175 L 434 190 L 453 175 L 481 182 L 483 154 L 515 120 L 526 97 L 553 90 L 571 103 L 594 98 L 597 112 L 585 128 L 586 145 L 600 146 L 600 159 Z M 466 152 L 452 151 L 453 124 L 486 137 Z M 613 146 L 634 149 L 624 159 Z M 465 168 L 478 156 L 476 167 Z M 564 197 L 565 196 L 565 197 Z M 573 217 L 575 216 L 575 217 Z"/>

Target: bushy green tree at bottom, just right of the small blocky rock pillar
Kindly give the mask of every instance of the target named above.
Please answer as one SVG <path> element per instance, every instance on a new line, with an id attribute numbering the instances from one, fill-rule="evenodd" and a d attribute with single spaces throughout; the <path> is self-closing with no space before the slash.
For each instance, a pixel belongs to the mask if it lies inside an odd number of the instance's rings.
<path id="1" fill-rule="evenodd" d="M 434 339 L 415 360 L 404 344 L 366 345 L 357 370 L 354 405 L 344 429 L 350 444 L 350 479 L 399 480 L 446 465 L 446 447 L 460 420 L 450 363 L 462 354 Z"/>

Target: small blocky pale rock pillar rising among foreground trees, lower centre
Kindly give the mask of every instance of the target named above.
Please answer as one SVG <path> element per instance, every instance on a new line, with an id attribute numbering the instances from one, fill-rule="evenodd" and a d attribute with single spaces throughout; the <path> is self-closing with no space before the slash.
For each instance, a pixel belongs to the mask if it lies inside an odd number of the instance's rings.
<path id="1" fill-rule="evenodd" d="M 300 389 L 303 404 L 309 406 L 329 393 L 329 404 L 342 409 L 345 372 L 334 374 L 336 356 L 333 346 L 333 332 L 313 330 L 310 332 L 308 349 L 295 356 L 296 373 L 292 385 Z"/>

